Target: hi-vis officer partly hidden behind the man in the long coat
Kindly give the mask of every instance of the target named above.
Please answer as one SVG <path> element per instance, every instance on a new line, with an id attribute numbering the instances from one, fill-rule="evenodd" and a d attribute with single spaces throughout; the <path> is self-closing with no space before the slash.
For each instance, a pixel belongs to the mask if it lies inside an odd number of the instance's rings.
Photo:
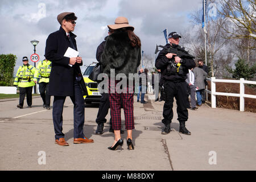
<path id="1" fill-rule="evenodd" d="M 47 110 L 50 109 L 51 96 L 48 95 L 49 91 L 49 75 L 52 69 L 52 62 L 45 59 L 40 61 L 36 67 L 34 74 L 34 82 L 39 79 L 39 92 L 43 100 L 43 107 Z"/>

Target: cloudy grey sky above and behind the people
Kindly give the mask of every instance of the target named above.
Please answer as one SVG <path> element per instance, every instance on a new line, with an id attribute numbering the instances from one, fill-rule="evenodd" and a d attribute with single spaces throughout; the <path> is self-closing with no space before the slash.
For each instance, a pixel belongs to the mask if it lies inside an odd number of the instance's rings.
<path id="1" fill-rule="evenodd" d="M 0 0 L 0 54 L 18 57 L 16 72 L 22 57 L 34 53 L 30 41 L 36 39 L 36 53 L 43 60 L 48 35 L 60 27 L 57 15 L 68 11 L 78 17 L 74 33 L 84 65 L 96 60 L 97 46 L 108 32 L 106 26 L 114 24 L 118 16 L 125 16 L 135 27 L 142 50 L 154 55 L 155 45 L 165 44 L 162 31 L 187 31 L 189 14 L 201 7 L 202 0 Z"/>

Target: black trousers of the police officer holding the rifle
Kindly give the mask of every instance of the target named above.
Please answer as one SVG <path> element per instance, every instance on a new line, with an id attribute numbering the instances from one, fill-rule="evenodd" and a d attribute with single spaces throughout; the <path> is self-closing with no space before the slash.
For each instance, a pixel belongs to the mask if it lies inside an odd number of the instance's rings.
<path id="1" fill-rule="evenodd" d="M 172 107 L 174 106 L 174 97 L 177 104 L 177 120 L 187 121 L 188 120 L 188 95 L 187 95 L 187 83 L 183 82 L 164 82 L 164 92 L 166 93 L 166 101 L 163 107 L 163 117 L 162 122 L 166 125 L 172 122 L 174 117 L 174 112 Z"/>

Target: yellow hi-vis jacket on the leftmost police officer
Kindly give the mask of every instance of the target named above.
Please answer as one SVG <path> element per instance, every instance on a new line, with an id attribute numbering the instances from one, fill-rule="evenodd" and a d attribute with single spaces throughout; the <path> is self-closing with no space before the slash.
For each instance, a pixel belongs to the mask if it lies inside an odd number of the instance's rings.
<path id="1" fill-rule="evenodd" d="M 35 82 L 33 81 L 34 73 L 36 68 L 32 65 L 22 65 L 19 67 L 16 77 L 14 79 L 14 85 L 18 85 L 19 87 L 29 87 L 34 86 Z"/>

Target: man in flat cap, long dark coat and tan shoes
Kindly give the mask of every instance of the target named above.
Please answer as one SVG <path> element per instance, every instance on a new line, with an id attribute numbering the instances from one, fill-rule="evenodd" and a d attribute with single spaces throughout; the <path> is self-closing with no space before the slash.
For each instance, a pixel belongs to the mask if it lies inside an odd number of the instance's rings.
<path id="1" fill-rule="evenodd" d="M 82 78 L 80 66 L 82 57 L 65 57 L 68 47 L 77 50 L 75 30 L 77 17 L 75 13 L 65 12 L 57 16 L 60 30 L 50 34 L 46 40 L 46 59 L 52 61 L 49 77 L 49 96 L 53 100 L 53 125 L 55 130 L 55 143 L 59 146 L 68 146 L 62 132 L 63 106 L 65 98 L 69 96 L 74 104 L 74 139 L 73 143 L 93 143 L 84 135 L 84 98 L 79 81 Z"/>

